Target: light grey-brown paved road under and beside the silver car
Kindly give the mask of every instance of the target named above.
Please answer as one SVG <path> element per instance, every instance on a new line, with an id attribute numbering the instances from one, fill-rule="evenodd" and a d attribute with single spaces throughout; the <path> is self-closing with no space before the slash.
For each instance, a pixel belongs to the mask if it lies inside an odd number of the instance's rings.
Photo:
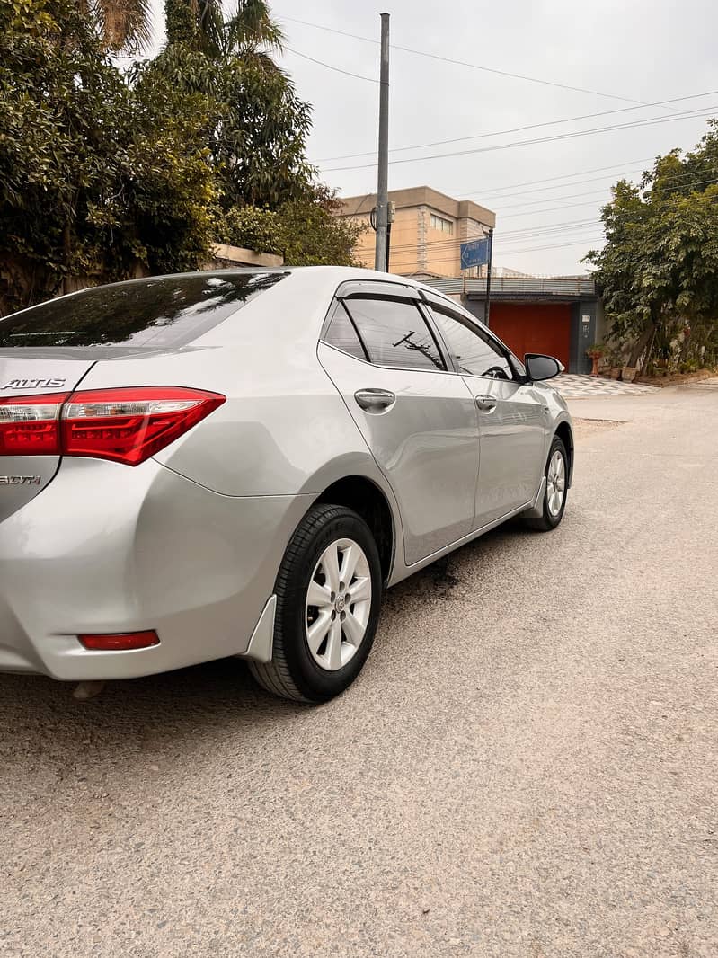
<path id="1" fill-rule="evenodd" d="M 714 958 L 718 381 L 612 401 L 563 526 L 394 589 L 324 708 L 0 676 L 0 953 Z"/>

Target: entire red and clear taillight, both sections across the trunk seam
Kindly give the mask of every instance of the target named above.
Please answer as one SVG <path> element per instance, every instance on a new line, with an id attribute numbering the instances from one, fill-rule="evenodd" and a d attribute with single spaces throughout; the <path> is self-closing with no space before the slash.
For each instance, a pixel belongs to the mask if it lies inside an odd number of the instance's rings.
<path id="1" fill-rule="evenodd" d="M 0 455 L 63 455 L 137 466 L 226 402 L 181 386 L 0 399 Z"/>

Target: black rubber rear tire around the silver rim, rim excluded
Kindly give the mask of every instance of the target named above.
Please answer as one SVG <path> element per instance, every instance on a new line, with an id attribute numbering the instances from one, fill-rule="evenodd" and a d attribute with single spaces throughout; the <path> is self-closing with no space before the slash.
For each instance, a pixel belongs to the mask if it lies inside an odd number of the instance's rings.
<path id="1" fill-rule="evenodd" d="M 327 672 L 314 660 L 306 640 L 305 603 L 309 582 L 325 549 L 342 538 L 361 546 L 369 562 L 370 615 L 364 638 L 347 665 Z M 357 513 L 344 506 L 314 506 L 292 536 L 275 585 L 272 661 L 249 662 L 250 672 L 262 688 L 297 702 L 319 703 L 338 696 L 361 672 L 376 633 L 381 605 L 382 572 L 379 552 L 370 528 Z"/>

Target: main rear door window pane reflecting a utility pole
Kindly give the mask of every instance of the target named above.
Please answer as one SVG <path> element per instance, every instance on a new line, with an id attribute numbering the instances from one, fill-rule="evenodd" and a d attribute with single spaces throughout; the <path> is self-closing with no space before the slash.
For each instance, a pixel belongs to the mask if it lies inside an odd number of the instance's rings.
<path id="1" fill-rule="evenodd" d="M 434 336 L 414 303 L 351 298 L 345 306 L 370 362 L 378 366 L 445 369 Z"/>

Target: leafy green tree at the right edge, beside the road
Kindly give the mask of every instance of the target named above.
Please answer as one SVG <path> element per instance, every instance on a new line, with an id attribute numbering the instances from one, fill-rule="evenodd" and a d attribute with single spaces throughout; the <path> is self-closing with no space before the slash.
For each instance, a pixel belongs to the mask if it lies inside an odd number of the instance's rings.
<path id="1" fill-rule="evenodd" d="M 718 353 L 718 124 L 682 156 L 659 157 L 639 186 L 621 180 L 602 212 L 596 267 L 612 334 L 629 362 L 663 366 Z"/>

